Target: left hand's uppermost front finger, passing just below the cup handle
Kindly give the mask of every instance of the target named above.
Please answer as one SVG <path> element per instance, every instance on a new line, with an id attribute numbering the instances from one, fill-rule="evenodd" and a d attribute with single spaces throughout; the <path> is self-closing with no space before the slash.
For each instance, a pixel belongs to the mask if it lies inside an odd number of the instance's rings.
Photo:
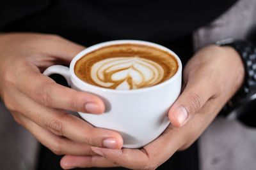
<path id="1" fill-rule="evenodd" d="M 20 92 L 44 106 L 95 114 L 105 110 L 100 97 L 59 85 L 32 67 L 27 66 L 22 75 L 18 80 Z"/>

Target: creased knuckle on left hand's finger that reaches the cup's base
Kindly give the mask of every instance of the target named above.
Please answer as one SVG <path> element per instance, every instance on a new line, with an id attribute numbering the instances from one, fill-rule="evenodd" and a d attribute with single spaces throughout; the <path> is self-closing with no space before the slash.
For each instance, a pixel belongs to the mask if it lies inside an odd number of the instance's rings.
<path id="1" fill-rule="evenodd" d="M 61 121 L 61 118 L 59 118 L 59 117 L 49 118 L 49 120 L 47 120 L 45 125 L 54 134 L 56 134 L 58 136 L 65 135 L 64 130 L 63 130 L 64 125 L 63 125 L 63 122 Z"/>

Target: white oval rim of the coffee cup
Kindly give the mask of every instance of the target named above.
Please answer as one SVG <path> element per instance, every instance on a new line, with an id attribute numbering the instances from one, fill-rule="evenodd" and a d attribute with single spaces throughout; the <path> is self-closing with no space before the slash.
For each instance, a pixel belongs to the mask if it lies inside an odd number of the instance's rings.
<path id="1" fill-rule="evenodd" d="M 153 47 L 159 48 L 159 49 L 164 50 L 168 53 L 171 53 L 175 57 L 175 59 L 177 59 L 177 61 L 178 61 L 178 64 L 179 64 L 178 70 L 170 79 L 168 79 L 166 81 L 163 81 L 162 83 L 159 83 L 157 85 L 153 85 L 151 87 L 144 87 L 144 88 L 141 88 L 141 89 L 132 89 L 132 90 L 118 90 L 118 89 L 108 89 L 108 88 L 105 88 L 105 87 L 99 87 L 99 86 L 96 86 L 96 85 L 92 85 L 90 83 L 86 83 L 85 81 L 79 79 L 76 76 L 76 74 L 74 73 L 74 66 L 75 66 L 77 60 L 79 60 L 81 57 L 86 55 L 86 53 L 93 52 L 93 51 L 95 51 L 99 48 L 102 48 L 104 46 L 120 45 L 120 44 L 148 45 L 148 46 L 153 46 Z M 181 64 L 181 61 L 180 61 L 180 58 L 178 57 L 178 55 L 175 52 L 173 52 L 172 50 L 170 50 L 169 48 L 166 48 L 165 46 L 158 45 L 156 43 L 152 43 L 152 42 L 148 42 L 148 41 L 141 41 L 141 40 L 134 40 L 134 39 L 121 39 L 121 40 L 114 40 L 114 41 L 106 41 L 106 42 L 98 43 L 96 45 L 92 45 L 92 46 L 89 46 L 88 48 L 85 48 L 81 52 L 77 53 L 77 55 L 72 59 L 72 61 L 70 62 L 69 70 L 70 70 L 71 77 L 74 78 L 74 80 L 81 83 L 82 85 L 86 85 L 86 87 L 90 87 L 90 88 L 93 88 L 95 90 L 101 90 L 101 91 L 104 91 L 104 92 L 133 93 L 133 92 L 145 92 L 145 91 L 148 91 L 148 90 L 159 89 L 159 88 L 167 85 L 171 81 L 174 81 L 175 79 L 177 79 L 179 77 L 179 74 L 181 74 L 182 64 Z M 72 81 L 72 78 L 71 78 L 71 81 Z"/>

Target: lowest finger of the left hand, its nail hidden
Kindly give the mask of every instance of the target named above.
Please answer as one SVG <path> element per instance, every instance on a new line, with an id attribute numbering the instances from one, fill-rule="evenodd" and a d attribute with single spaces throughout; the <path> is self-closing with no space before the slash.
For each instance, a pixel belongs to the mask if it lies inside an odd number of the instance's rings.
<path id="1" fill-rule="evenodd" d="M 40 141 L 42 145 L 49 148 L 49 150 L 56 155 L 97 155 L 92 151 L 91 146 L 89 145 L 77 143 L 61 136 L 56 136 L 52 132 L 47 131 L 46 129 L 35 124 L 35 122 L 32 122 L 28 118 L 20 116 L 18 113 L 15 115 L 15 120 L 17 120 L 20 125 L 28 129 L 28 131 L 31 132 L 31 134 L 33 134 L 33 136 L 35 136 L 35 138 Z"/>

